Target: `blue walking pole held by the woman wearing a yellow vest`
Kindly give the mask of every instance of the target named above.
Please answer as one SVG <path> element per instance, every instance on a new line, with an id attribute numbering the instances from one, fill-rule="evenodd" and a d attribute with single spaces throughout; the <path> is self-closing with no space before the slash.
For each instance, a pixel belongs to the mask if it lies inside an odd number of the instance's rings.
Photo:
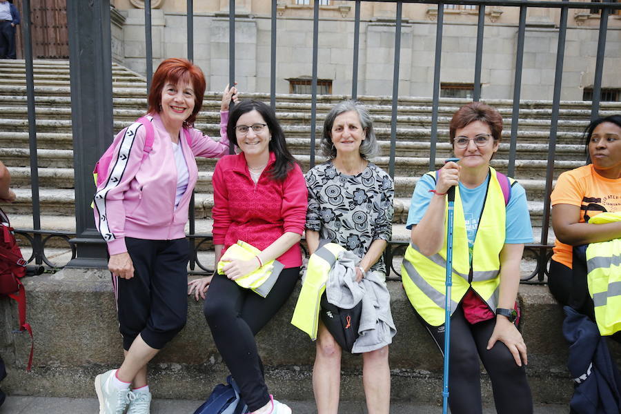
<path id="1" fill-rule="evenodd" d="M 457 158 L 445 161 L 457 162 Z M 446 297 L 444 299 L 444 375 L 442 384 L 442 414 L 449 410 L 449 354 L 451 348 L 451 286 L 453 286 L 453 206 L 455 204 L 455 187 L 449 188 L 449 215 L 446 226 Z"/>

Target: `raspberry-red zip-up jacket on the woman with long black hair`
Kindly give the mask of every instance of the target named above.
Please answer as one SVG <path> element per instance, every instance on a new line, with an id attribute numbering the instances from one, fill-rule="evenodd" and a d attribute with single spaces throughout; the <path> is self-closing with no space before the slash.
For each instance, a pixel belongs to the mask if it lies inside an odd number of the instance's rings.
<path id="1" fill-rule="evenodd" d="M 222 157 L 213 172 L 213 244 L 222 244 L 222 254 L 237 240 L 259 250 L 286 232 L 304 233 L 308 190 L 297 164 L 284 181 L 269 177 L 276 157 L 255 184 L 250 177 L 244 152 Z M 302 266 L 299 243 L 277 258 L 285 268 Z"/>

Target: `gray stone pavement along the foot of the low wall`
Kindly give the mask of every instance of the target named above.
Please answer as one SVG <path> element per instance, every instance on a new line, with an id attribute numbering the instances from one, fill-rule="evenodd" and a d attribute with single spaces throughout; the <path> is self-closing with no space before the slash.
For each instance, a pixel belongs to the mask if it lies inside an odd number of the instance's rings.
<path id="1" fill-rule="evenodd" d="M 198 400 L 154 400 L 151 414 L 191 414 L 202 403 Z M 295 414 L 316 413 L 313 402 L 286 402 Z M 95 414 L 98 413 L 97 398 L 48 398 L 48 397 L 7 397 L 0 407 L 0 414 Z M 538 405 L 535 414 L 566 414 L 566 405 Z M 366 414 L 364 402 L 342 402 L 341 414 Z M 391 414 L 440 414 L 442 406 L 419 404 L 391 404 Z M 483 414 L 493 414 L 493 406 L 484 408 Z"/>

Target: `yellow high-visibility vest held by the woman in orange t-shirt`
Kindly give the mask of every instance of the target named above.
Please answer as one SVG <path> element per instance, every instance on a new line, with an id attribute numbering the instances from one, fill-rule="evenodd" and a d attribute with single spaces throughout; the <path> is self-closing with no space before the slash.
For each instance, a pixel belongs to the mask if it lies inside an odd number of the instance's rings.
<path id="1" fill-rule="evenodd" d="M 589 224 L 621 221 L 620 213 L 600 213 Z M 586 248 L 586 283 L 595 306 L 600 334 L 621 331 L 621 239 L 591 243 Z"/>

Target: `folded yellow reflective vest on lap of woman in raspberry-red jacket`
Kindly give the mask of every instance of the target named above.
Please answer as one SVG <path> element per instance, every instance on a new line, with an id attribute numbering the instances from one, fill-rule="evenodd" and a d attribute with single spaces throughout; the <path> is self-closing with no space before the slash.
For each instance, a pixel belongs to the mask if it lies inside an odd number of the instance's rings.
<path id="1" fill-rule="evenodd" d="M 224 275 L 224 265 L 231 260 L 250 260 L 261 253 L 261 250 L 242 240 L 237 240 L 237 244 L 233 244 L 226 249 L 224 255 L 220 257 L 218 262 L 218 273 Z M 277 260 L 267 262 L 253 273 L 238 277 L 235 282 L 242 288 L 252 289 L 254 293 L 262 297 L 266 297 L 278 279 L 278 275 L 282 271 L 284 265 Z"/>

